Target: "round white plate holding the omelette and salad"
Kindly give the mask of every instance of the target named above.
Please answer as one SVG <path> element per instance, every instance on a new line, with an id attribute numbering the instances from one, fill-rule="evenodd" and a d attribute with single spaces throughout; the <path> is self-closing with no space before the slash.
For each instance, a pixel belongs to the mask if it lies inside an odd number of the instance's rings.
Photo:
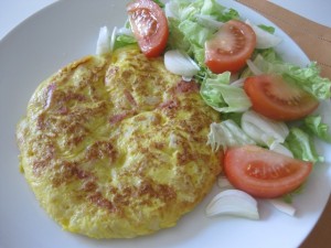
<path id="1" fill-rule="evenodd" d="M 102 25 L 122 25 L 125 2 L 115 0 L 60 1 L 34 14 L 0 43 L 0 247 L 298 247 L 310 233 L 331 190 L 331 148 L 318 144 L 327 163 L 318 164 L 305 194 L 298 196 L 296 217 L 278 213 L 259 202 L 260 220 L 233 217 L 206 218 L 204 208 L 217 188 L 177 227 L 152 236 L 128 240 L 94 240 L 63 231 L 39 206 L 19 172 L 15 123 L 24 115 L 33 90 L 62 66 L 93 54 Z M 234 1 L 221 1 L 238 10 L 252 22 L 271 24 Z M 284 37 L 279 51 L 293 63 L 306 65 L 303 52 L 279 29 Z M 330 109 L 327 106 L 325 109 Z M 325 112 L 325 109 L 322 109 Z M 330 116 L 327 121 L 331 123 Z"/>

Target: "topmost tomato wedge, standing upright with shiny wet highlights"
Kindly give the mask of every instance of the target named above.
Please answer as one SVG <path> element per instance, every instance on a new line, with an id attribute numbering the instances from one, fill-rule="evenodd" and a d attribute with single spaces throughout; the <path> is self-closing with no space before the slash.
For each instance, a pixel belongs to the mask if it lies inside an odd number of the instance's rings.
<path id="1" fill-rule="evenodd" d="M 127 6 L 127 12 L 142 53 L 147 57 L 159 56 L 169 36 L 168 21 L 162 9 L 152 0 L 136 0 Z"/>

